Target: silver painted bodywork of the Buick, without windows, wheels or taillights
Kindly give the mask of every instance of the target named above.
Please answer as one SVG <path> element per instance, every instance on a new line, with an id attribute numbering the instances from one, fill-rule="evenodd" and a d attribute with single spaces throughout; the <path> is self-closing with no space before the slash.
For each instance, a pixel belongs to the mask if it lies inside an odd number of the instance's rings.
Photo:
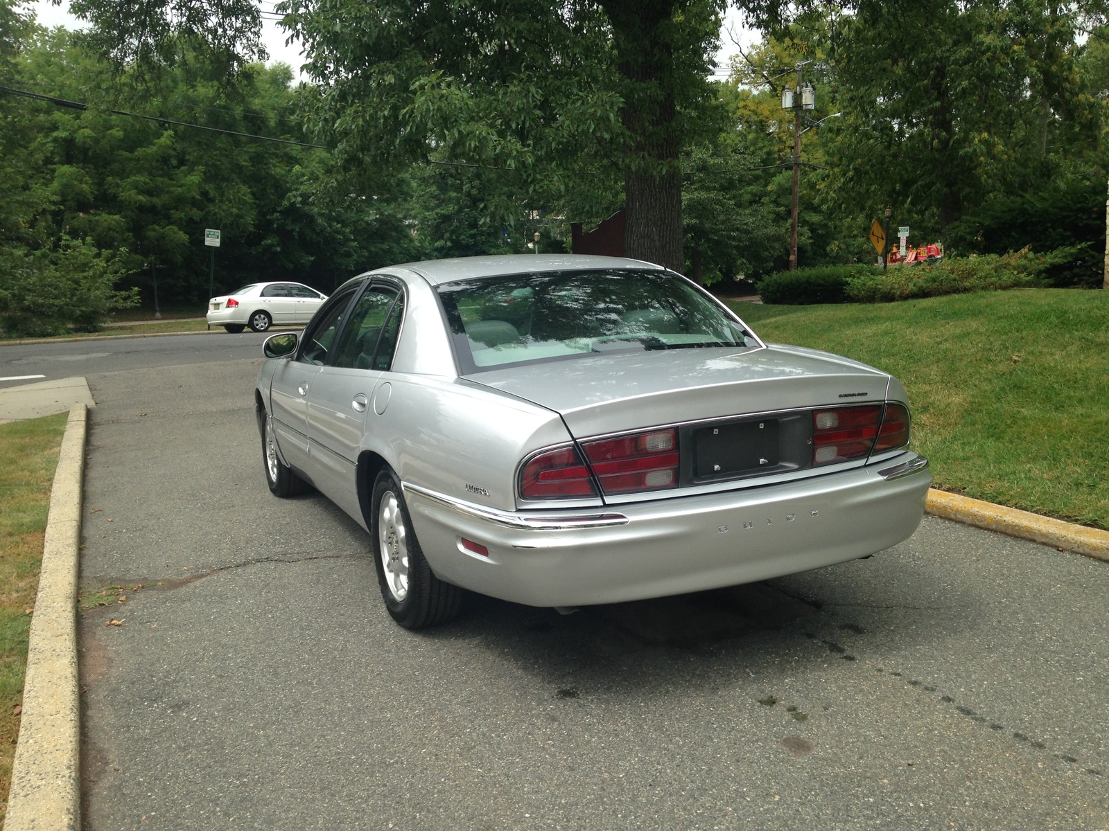
<path id="1" fill-rule="evenodd" d="M 356 280 L 403 284 L 393 366 L 266 361 L 258 393 L 274 417 L 283 458 L 366 527 L 358 463 L 378 456 L 400 479 L 416 535 L 440 578 L 532 605 L 611 603 L 765 579 L 873 554 L 913 533 L 930 474 L 926 460 L 906 450 L 619 499 L 518 500 L 522 460 L 576 440 L 806 408 L 907 404 L 902 384 L 873 367 L 761 342 L 459 376 L 435 286 L 621 267 L 659 269 L 637 260 L 532 255 L 360 275 Z M 489 556 L 461 547 L 464 536 L 486 545 Z"/>

